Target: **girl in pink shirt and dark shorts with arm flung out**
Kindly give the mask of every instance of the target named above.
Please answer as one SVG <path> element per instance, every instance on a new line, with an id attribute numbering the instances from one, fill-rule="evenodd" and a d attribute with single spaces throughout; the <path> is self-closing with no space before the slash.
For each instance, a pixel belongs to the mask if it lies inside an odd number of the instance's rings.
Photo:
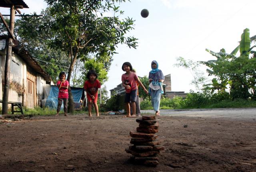
<path id="1" fill-rule="evenodd" d="M 127 112 L 126 117 L 136 117 L 135 102 L 137 99 L 137 91 L 138 91 L 136 81 L 138 82 L 138 84 L 140 84 L 141 88 L 144 90 L 144 92 L 146 92 L 146 94 L 148 94 L 148 90 L 146 90 L 142 82 L 140 82 L 140 79 L 138 78 L 137 74 L 134 72 L 131 72 L 132 65 L 129 62 L 125 62 L 122 65 L 122 70 L 126 72 L 125 74 L 122 74 L 122 85 L 124 86 L 125 92 L 126 92 L 125 98 L 124 98 L 126 112 Z M 130 113 L 130 104 L 129 104 L 130 102 L 132 106 L 132 115 Z"/>

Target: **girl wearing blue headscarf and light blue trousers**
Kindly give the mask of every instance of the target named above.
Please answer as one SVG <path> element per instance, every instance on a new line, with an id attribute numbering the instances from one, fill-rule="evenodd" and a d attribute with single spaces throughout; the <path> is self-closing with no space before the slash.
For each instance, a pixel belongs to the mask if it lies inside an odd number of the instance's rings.
<path id="1" fill-rule="evenodd" d="M 162 70 L 158 69 L 158 63 L 156 61 L 151 62 L 152 70 L 149 72 L 149 90 L 148 93 L 151 97 L 151 103 L 156 111 L 156 116 L 160 115 L 159 107 L 160 107 L 160 99 L 161 94 L 164 93 L 162 82 L 164 81 L 164 74 Z"/>

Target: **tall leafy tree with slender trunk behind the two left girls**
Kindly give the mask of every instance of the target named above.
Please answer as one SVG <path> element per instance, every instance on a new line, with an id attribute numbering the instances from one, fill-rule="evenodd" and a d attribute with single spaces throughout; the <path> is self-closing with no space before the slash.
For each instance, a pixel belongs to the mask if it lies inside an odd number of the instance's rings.
<path id="1" fill-rule="evenodd" d="M 46 0 L 48 8 L 42 17 L 22 18 L 21 34 L 24 37 L 44 39 L 51 48 L 66 52 L 70 65 L 67 80 L 77 59 L 86 61 L 88 54 L 96 59 L 110 57 L 116 53 L 119 43 L 136 48 L 137 39 L 124 35 L 133 29 L 134 20 L 119 19 L 124 12 L 116 2 L 126 0 Z M 113 17 L 103 17 L 104 12 L 112 12 Z M 98 16 L 100 15 L 100 17 Z M 73 99 L 69 88 L 70 112 Z"/>

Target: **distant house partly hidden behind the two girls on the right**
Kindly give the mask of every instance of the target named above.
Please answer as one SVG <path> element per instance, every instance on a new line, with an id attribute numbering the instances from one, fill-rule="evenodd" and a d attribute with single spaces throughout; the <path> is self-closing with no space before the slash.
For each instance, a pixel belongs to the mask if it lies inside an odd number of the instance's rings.
<path id="1" fill-rule="evenodd" d="M 171 82 L 171 74 L 164 76 L 163 82 L 164 96 L 168 98 L 174 98 L 175 96 L 180 96 L 182 98 L 186 98 L 187 93 L 184 91 L 172 91 L 172 82 Z M 116 94 L 125 94 L 125 88 L 121 84 L 118 84 L 115 88 L 110 90 L 110 95 L 114 96 Z"/>

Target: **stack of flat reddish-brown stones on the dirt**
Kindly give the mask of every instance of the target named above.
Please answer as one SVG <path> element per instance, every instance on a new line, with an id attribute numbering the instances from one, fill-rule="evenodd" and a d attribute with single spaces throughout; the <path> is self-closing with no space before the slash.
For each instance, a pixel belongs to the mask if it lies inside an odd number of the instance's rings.
<path id="1" fill-rule="evenodd" d="M 156 116 L 142 116 L 136 119 L 140 123 L 136 131 L 130 131 L 132 137 L 131 145 L 125 149 L 127 153 L 132 154 L 131 160 L 136 164 L 147 166 L 157 166 L 159 164 L 158 154 L 164 150 L 160 141 L 156 141 L 159 123 Z"/>

